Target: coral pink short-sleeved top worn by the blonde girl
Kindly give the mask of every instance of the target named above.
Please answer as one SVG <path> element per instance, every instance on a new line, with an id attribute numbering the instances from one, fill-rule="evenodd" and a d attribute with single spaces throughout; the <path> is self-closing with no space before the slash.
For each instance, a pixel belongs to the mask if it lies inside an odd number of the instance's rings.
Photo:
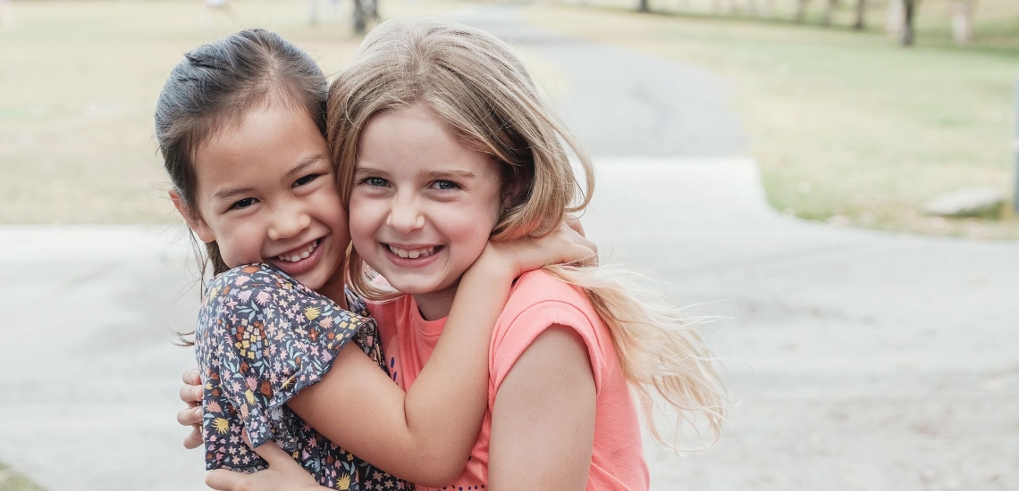
<path id="1" fill-rule="evenodd" d="M 369 310 L 378 323 L 389 373 L 406 390 L 414 383 L 435 348 L 445 319 L 423 319 L 411 295 L 388 303 L 370 304 Z M 471 450 L 464 474 L 451 486 L 442 489 L 485 489 L 495 394 L 517 359 L 553 324 L 575 329 L 587 345 L 591 360 L 597 405 L 587 489 L 648 489 L 650 484 L 637 411 L 612 348 L 608 328 L 583 291 L 542 271 L 532 271 L 520 277 L 495 324 L 488 353 L 491 374 L 488 412 L 481 434 Z M 430 488 L 418 486 L 418 489 Z"/>

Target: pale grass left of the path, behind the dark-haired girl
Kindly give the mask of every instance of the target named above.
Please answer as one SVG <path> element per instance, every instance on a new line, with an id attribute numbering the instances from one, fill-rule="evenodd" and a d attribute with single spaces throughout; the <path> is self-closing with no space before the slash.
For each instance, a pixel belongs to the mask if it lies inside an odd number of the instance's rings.
<path id="1" fill-rule="evenodd" d="M 0 24 L 0 223 L 173 217 L 152 117 L 163 81 L 185 51 L 263 26 L 309 51 L 330 73 L 361 41 L 346 14 L 333 17 L 328 8 L 321 23 L 308 25 L 304 1 L 231 4 L 232 18 L 219 12 L 203 25 L 202 2 L 194 0 L 15 0 L 15 28 Z M 383 13 L 435 5 L 397 1 Z"/>

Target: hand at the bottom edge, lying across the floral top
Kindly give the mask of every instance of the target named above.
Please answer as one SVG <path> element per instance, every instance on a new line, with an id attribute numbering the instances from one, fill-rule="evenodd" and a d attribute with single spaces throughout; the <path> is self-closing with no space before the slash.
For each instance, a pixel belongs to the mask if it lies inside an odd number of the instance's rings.
<path id="1" fill-rule="evenodd" d="M 245 441 L 248 439 L 245 438 Z M 250 443 L 249 443 L 250 444 Z M 205 484 L 219 491 L 304 491 L 329 489 L 319 486 L 315 478 L 305 471 L 275 442 L 268 442 L 255 449 L 269 469 L 254 474 L 242 474 L 217 469 L 205 477 Z"/>

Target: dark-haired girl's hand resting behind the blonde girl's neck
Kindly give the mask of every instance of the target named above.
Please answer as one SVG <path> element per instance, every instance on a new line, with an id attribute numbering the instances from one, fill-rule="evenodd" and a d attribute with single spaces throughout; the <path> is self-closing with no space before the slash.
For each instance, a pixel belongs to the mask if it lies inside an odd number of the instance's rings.
<path id="1" fill-rule="evenodd" d="M 598 247 L 584 236 L 580 221 L 569 219 L 541 238 L 488 242 L 478 262 L 507 265 L 517 277 L 550 264 L 597 264 L 597 258 Z"/>

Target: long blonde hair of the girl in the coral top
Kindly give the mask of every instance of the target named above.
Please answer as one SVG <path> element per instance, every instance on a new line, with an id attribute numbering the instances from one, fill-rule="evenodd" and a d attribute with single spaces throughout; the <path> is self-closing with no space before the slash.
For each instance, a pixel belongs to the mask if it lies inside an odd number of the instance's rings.
<path id="1" fill-rule="evenodd" d="M 545 106 L 524 65 L 503 42 L 480 30 L 440 19 L 396 19 L 366 37 L 355 60 L 329 89 L 326 137 L 338 166 L 340 197 L 348 204 L 361 132 L 382 112 L 424 105 L 469 149 L 491 156 L 504 188 L 519 189 L 491 239 L 539 237 L 569 213 L 583 210 L 594 188 L 590 158 Z M 573 157 L 583 174 L 578 178 Z M 372 298 L 394 292 L 374 284 L 352 252 L 350 283 Z M 656 398 L 683 420 L 703 417 L 714 439 L 725 415 L 725 389 L 715 359 L 691 321 L 661 293 L 642 288 L 640 274 L 615 266 L 545 268 L 584 289 L 608 325 L 613 345 L 645 422 L 660 442 Z M 712 440 L 713 441 L 713 440 Z"/>

